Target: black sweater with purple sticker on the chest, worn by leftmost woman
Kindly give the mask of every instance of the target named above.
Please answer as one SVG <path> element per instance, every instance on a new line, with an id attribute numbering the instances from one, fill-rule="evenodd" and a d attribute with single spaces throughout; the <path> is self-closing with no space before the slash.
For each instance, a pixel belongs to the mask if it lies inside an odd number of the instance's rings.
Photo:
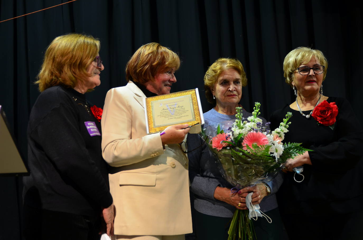
<path id="1" fill-rule="evenodd" d="M 74 89 L 55 86 L 39 95 L 29 117 L 28 165 L 24 204 L 92 216 L 113 202 L 101 124 Z"/>

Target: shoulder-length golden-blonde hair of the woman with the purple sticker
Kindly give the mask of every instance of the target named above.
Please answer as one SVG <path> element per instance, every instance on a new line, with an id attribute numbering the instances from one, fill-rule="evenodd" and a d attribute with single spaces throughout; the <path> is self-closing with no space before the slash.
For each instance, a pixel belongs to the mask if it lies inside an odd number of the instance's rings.
<path id="1" fill-rule="evenodd" d="M 45 51 L 35 82 L 39 90 L 57 85 L 74 88 L 78 81 L 87 81 L 91 76 L 87 68 L 99 49 L 100 42 L 90 35 L 69 33 L 54 38 Z"/>

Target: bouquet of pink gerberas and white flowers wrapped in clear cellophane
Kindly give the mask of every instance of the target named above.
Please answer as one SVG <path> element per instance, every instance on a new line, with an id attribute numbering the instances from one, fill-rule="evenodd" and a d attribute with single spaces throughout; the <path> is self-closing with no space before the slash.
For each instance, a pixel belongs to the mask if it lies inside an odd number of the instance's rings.
<path id="1" fill-rule="evenodd" d="M 256 102 L 252 116 L 242 118 L 241 107 L 236 107 L 236 120 L 228 128 L 228 132 L 217 127 L 216 136 L 207 135 L 205 129 L 201 132 L 207 141 L 209 149 L 221 163 L 222 176 L 238 189 L 260 182 L 272 180 L 286 160 L 302 154 L 308 149 L 300 143 L 285 143 L 284 134 L 288 132 L 291 112 L 287 112 L 280 126 L 269 130 L 269 123 L 262 126 L 260 103 Z M 243 121 L 244 120 L 244 121 Z M 248 210 L 236 210 L 228 231 L 228 240 L 252 240 L 255 233 Z M 238 235 L 238 236 L 237 236 Z"/>

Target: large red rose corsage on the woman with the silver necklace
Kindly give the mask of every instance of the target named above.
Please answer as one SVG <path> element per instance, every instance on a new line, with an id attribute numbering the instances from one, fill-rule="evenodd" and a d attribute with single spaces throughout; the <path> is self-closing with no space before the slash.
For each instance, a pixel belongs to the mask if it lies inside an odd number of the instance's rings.
<path id="1" fill-rule="evenodd" d="M 335 121 L 337 121 L 337 115 L 337 104 L 335 104 L 335 102 L 328 103 L 327 100 L 324 100 L 317 105 L 314 108 L 313 114 L 311 114 L 318 123 L 323 124 L 324 126 L 329 126 L 331 129 L 334 129 Z"/>

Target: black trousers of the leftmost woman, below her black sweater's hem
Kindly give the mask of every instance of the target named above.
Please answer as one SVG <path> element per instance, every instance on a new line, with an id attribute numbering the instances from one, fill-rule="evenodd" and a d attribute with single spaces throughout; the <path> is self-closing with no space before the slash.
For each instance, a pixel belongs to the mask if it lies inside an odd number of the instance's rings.
<path id="1" fill-rule="evenodd" d="M 101 218 L 38 209 L 24 204 L 26 240 L 99 240 Z"/>

